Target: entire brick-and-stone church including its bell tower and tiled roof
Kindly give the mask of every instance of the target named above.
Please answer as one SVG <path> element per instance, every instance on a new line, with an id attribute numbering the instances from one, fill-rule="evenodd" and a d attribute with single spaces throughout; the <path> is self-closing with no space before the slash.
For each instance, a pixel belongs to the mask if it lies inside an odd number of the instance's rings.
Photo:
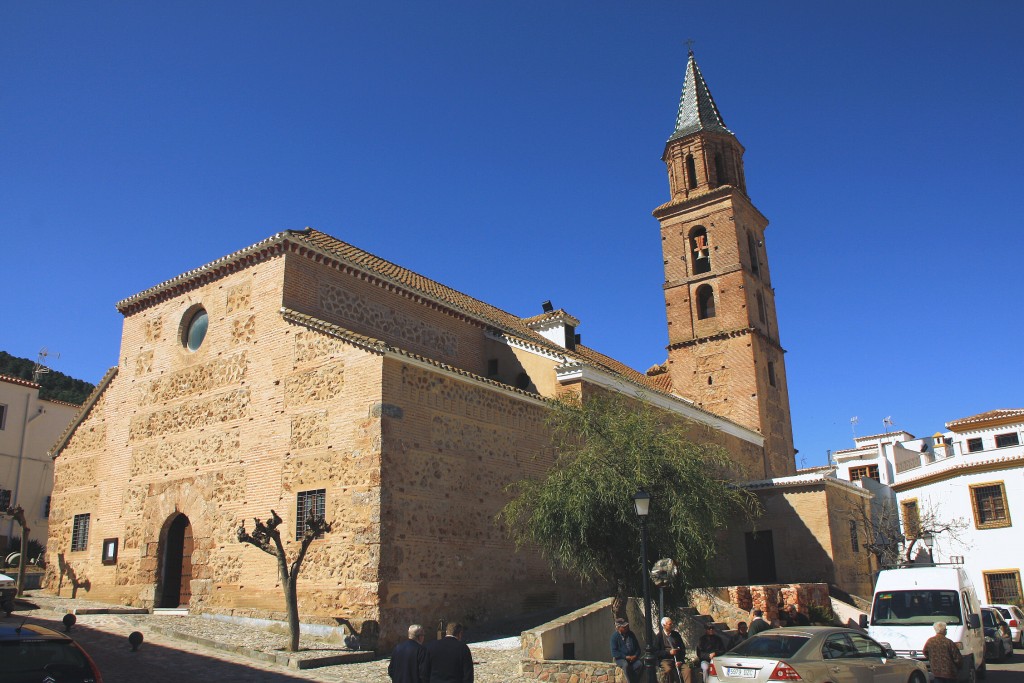
<path id="1" fill-rule="evenodd" d="M 311 228 L 120 301 L 118 366 L 52 454 L 48 586 L 279 616 L 273 558 L 236 539 L 241 521 L 251 528 L 273 509 L 289 542 L 311 513 L 334 522 L 303 565 L 300 614 L 344 624 L 367 644 L 390 646 L 411 623 L 579 605 L 586 587 L 554 583 L 495 515 L 509 483 L 553 463 L 547 399 L 598 390 L 686 420 L 756 490 L 788 492 L 772 523 L 813 527 L 799 539 L 817 545 L 799 551 L 787 533 L 766 548 L 763 533 L 733 530 L 728 581 L 776 556 L 801 558 L 778 565 L 780 580 L 853 575 L 827 519 L 801 521 L 791 500 L 807 486 L 786 483 L 793 434 L 767 219 L 748 198 L 742 153 L 691 53 L 664 156 L 670 200 L 654 211 L 668 357 L 646 374 L 581 343 L 582 322 L 566 310 L 513 314 Z M 811 495 L 802 500 L 823 504 Z M 744 533 L 762 541 L 752 550 Z M 814 577 L 788 575 L 801 571 Z"/>

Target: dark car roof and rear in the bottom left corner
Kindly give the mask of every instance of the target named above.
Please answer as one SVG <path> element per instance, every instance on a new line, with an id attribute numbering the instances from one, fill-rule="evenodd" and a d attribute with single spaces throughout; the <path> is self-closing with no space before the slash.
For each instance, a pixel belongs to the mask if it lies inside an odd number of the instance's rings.
<path id="1" fill-rule="evenodd" d="M 18 620 L 20 621 L 20 620 Z M 33 624 L 0 624 L 4 683 L 103 683 L 85 650 L 69 636 Z"/>

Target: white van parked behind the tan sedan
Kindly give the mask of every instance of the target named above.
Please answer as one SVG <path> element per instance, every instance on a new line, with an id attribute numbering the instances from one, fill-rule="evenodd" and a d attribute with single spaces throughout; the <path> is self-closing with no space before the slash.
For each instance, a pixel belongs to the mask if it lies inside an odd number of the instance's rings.
<path id="1" fill-rule="evenodd" d="M 985 631 L 974 584 L 963 567 L 907 566 L 883 569 L 874 584 L 867 634 L 900 656 L 924 659 L 936 622 L 964 655 L 959 680 L 985 678 Z"/>

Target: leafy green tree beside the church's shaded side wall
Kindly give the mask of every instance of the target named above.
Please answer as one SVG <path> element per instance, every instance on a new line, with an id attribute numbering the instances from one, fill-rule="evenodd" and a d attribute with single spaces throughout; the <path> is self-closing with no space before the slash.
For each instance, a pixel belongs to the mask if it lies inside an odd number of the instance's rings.
<path id="1" fill-rule="evenodd" d="M 603 582 L 624 604 L 642 592 L 632 500 L 642 488 L 651 496 L 648 559 L 676 561 L 677 589 L 712 585 L 717 532 L 760 509 L 732 483 L 724 449 L 693 440 L 692 423 L 617 394 L 554 400 L 548 427 L 554 467 L 512 484 L 498 515 L 517 547 L 539 547 L 552 569 Z"/>

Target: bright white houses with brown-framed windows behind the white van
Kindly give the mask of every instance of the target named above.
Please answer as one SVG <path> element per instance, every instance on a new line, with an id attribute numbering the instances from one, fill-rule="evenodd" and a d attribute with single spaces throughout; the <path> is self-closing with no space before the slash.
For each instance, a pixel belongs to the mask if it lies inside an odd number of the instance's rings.
<path id="1" fill-rule="evenodd" d="M 926 512 L 965 520 L 959 542 L 934 539 L 934 561 L 963 562 L 986 602 L 1018 602 L 1024 598 L 1024 409 L 945 426 L 924 438 L 905 431 L 856 438 L 853 449 L 833 454 L 835 476 L 874 489 L 879 501 L 895 496 L 904 528 Z"/>

